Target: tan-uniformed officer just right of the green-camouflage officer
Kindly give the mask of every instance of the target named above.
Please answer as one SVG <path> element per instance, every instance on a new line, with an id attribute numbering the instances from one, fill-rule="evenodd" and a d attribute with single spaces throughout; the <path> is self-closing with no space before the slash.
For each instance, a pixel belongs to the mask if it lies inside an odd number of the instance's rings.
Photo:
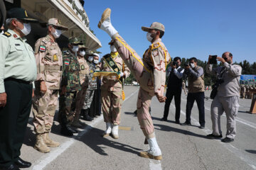
<path id="1" fill-rule="evenodd" d="M 85 60 L 85 50 L 87 50 L 87 47 L 85 45 L 79 45 L 79 50 L 78 50 L 78 62 L 80 65 L 80 72 L 79 72 L 79 77 L 80 77 L 80 84 L 81 84 L 81 90 L 78 92 L 78 95 L 76 97 L 75 101 L 75 119 L 72 123 L 72 125 L 76 128 L 81 128 L 82 125 L 85 125 L 85 123 L 80 122 L 79 117 L 80 117 L 80 112 L 82 109 L 82 105 L 85 101 L 85 95 L 86 95 L 86 90 L 88 87 L 88 77 L 89 77 L 89 66 L 87 64 L 87 61 Z"/>

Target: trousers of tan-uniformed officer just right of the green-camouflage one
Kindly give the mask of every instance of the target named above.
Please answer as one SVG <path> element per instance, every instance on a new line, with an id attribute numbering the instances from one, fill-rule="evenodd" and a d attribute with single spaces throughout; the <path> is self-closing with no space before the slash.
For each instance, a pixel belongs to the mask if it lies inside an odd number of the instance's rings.
<path id="1" fill-rule="evenodd" d="M 87 86 L 82 86 L 82 89 L 78 91 L 78 95 L 75 99 L 75 117 L 80 115 L 82 106 L 85 103 L 85 98 L 87 97 Z M 92 95 L 93 97 L 93 95 Z"/>

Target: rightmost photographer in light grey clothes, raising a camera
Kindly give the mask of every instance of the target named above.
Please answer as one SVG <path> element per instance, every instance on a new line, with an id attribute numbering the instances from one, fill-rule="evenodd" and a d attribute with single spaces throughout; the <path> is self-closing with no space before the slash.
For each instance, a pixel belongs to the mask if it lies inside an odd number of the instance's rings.
<path id="1" fill-rule="evenodd" d="M 213 68 L 213 64 L 210 64 L 211 58 L 212 56 L 209 56 L 206 72 L 217 75 L 217 86 L 215 86 L 217 92 L 210 107 L 213 132 L 207 135 L 207 137 L 209 139 L 222 137 L 220 115 L 225 111 L 227 117 L 227 133 L 221 142 L 233 142 L 236 133 L 235 116 L 238 114 L 239 108 L 239 81 L 240 75 L 242 74 L 242 67 L 238 64 L 233 64 L 233 55 L 231 52 L 224 52 L 222 57 L 216 58 L 222 62 L 223 66 L 221 67 Z"/>

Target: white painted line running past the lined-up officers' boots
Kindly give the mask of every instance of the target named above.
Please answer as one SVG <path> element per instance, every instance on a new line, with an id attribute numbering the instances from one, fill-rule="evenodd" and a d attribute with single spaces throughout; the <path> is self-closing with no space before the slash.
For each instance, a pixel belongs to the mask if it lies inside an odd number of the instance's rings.
<path id="1" fill-rule="evenodd" d="M 137 89 L 139 91 L 139 89 Z M 137 93 L 137 91 L 134 91 L 130 96 L 128 96 L 124 101 L 127 101 L 131 96 Z M 50 162 L 53 162 L 54 159 L 56 159 L 60 154 L 65 152 L 66 149 L 68 149 L 73 143 L 75 143 L 82 135 L 85 135 L 85 133 L 89 132 L 94 126 L 96 126 L 98 123 L 102 122 L 103 120 L 103 115 L 100 115 L 99 118 L 95 119 L 92 121 L 92 123 L 88 124 L 85 129 L 82 130 L 82 132 L 79 132 L 77 136 L 73 136 L 66 142 L 62 143 L 58 149 L 54 149 L 48 154 L 43 155 L 41 159 L 38 159 L 33 166 L 33 170 L 41 170 L 44 169 Z"/>

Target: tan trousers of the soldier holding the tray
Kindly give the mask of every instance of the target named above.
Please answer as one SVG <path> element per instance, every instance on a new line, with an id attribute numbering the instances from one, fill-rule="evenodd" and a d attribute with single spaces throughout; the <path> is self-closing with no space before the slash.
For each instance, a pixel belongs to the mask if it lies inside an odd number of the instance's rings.
<path id="1" fill-rule="evenodd" d="M 122 89 L 119 91 L 109 91 L 108 89 L 101 88 L 100 96 L 102 99 L 104 121 L 106 123 L 119 125 L 122 106 Z"/>

